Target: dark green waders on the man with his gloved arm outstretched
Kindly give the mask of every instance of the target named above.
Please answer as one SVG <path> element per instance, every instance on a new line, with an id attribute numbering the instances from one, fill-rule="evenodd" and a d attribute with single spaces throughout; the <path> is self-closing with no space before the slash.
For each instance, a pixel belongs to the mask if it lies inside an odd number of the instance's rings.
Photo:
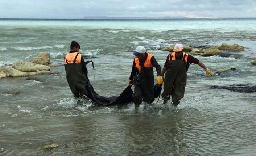
<path id="1" fill-rule="evenodd" d="M 170 99 L 174 106 L 179 104 L 179 100 L 184 97 L 186 82 L 187 82 L 188 64 L 183 59 L 170 60 L 167 64 L 167 71 L 164 80 L 164 92 L 162 98 L 164 101 Z"/>

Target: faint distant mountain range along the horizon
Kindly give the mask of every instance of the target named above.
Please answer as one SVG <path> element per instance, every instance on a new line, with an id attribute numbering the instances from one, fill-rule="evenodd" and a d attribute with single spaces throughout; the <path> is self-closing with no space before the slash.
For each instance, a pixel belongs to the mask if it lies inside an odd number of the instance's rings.
<path id="1" fill-rule="evenodd" d="M 156 19 L 191 19 L 184 16 L 175 17 L 108 17 L 108 16 L 85 16 L 83 19 L 94 19 L 94 20 L 156 20 Z"/>

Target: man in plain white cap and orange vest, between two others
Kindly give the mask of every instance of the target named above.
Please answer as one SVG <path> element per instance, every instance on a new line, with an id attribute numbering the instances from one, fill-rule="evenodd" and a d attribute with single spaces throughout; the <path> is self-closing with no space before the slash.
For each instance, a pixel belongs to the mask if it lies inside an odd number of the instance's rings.
<path id="1" fill-rule="evenodd" d="M 131 84 L 133 81 L 134 93 L 133 100 L 135 107 L 139 107 L 142 101 L 152 103 L 154 98 L 154 71 L 157 71 L 157 83 L 162 84 L 161 67 L 157 63 L 152 54 L 146 52 L 143 46 L 138 46 L 133 52 L 136 57 L 133 60 L 132 72 L 128 81 Z"/>

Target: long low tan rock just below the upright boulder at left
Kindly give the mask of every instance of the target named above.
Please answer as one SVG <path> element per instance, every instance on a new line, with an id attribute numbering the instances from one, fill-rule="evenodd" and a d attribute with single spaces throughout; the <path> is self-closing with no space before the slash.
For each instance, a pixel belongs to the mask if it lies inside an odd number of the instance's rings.
<path id="1" fill-rule="evenodd" d="M 50 70 L 50 67 L 48 66 L 45 66 L 42 64 L 36 64 L 32 62 L 15 62 L 13 63 L 12 68 L 22 72 L 37 72 L 37 71 Z"/>

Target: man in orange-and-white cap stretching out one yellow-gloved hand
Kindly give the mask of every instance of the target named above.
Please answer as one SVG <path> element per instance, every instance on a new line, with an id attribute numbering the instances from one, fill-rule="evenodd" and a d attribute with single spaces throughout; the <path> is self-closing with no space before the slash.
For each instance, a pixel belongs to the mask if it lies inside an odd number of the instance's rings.
<path id="1" fill-rule="evenodd" d="M 207 76 L 212 76 L 211 71 L 199 61 L 197 58 L 183 52 L 182 44 L 175 44 L 173 51 L 166 58 L 164 68 L 162 70 L 162 76 L 165 74 L 164 92 L 162 98 L 164 104 L 172 96 L 172 102 L 174 106 L 178 106 L 179 100 L 184 97 L 186 82 L 187 82 L 187 69 L 189 64 L 195 63 L 205 69 Z"/>

